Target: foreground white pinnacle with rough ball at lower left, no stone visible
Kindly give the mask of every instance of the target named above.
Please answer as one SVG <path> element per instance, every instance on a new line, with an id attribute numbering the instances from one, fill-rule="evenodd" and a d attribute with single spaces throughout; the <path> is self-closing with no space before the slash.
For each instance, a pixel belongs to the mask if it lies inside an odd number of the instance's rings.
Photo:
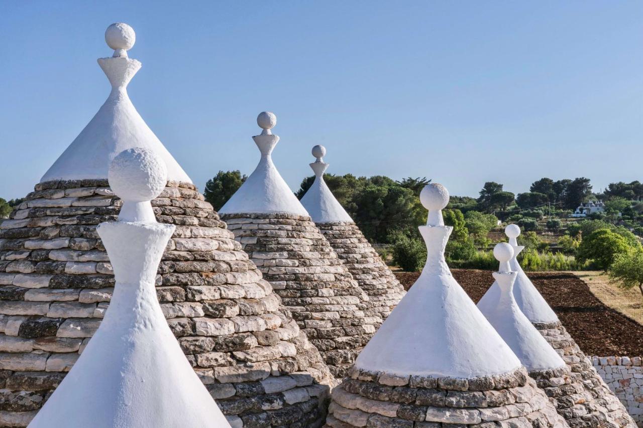
<path id="1" fill-rule="evenodd" d="M 114 159 L 111 186 L 125 206 L 163 190 L 163 161 L 154 157 L 134 148 Z M 138 180 L 118 192 L 131 177 Z M 116 276 L 111 303 L 29 427 L 230 427 L 181 351 L 156 296 L 156 270 L 175 229 L 156 220 L 98 226 Z"/>

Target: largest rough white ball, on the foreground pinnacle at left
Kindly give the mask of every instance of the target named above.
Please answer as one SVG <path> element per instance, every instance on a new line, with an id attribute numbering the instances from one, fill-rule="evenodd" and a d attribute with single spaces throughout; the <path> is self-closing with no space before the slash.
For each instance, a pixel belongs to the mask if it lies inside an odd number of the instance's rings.
<path id="1" fill-rule="evenodd" d="M 109 186 L 123 201 L 152 201 L 167 183 L 167 166 L 147 148 L 134 147 L 120 152 L 109 165 Z"/>

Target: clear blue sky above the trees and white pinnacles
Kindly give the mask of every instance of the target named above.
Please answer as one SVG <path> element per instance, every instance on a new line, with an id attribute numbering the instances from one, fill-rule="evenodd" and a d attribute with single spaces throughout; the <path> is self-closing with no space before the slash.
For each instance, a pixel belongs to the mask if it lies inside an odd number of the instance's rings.
<path id="1" fill-rule="evenodd" d="M 203 189 L 249 174 L 258 112 L 295 190 L 330 173 L 643 181 L 641 1 L 5 1 L 0 197 L 24 196 L 104 102 L 96 58 L 130 24 L 138 111 Z"/>

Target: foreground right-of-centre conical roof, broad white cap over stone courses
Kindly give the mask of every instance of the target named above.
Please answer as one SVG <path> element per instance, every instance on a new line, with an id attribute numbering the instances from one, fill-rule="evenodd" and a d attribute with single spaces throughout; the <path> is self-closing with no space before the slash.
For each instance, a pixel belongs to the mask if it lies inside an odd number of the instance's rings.
<path id="1" fill-rule="evenodd" d="M 332 391 L 331 427 L 566 427 L 518 357 L 451 276 L 446 189 L 422 190 L 421 276 Z"/>

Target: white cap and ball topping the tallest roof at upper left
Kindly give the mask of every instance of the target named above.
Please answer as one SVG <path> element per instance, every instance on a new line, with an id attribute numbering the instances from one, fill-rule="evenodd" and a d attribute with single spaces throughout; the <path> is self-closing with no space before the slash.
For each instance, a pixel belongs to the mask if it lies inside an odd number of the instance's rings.
<path id="1" fill-rule="evenodd" d="M 135 40 L 134 30 L 122 22 L 105 31 L 105 41 L 114 49 L 114 56 L 99 58 L 98 65 L 112 85 L 111 93 L 85 129 L 42 176 L 41 183 L 107 179 L 107 169 L 114 157 L 133 147 L 147 148 L 161 157 L 167 165 L 169 180 L 192 183 L 127 95 L 127 84 L 141 68 L 138 60 L 127 57 L 127 49 L 134 46 Z"/>

